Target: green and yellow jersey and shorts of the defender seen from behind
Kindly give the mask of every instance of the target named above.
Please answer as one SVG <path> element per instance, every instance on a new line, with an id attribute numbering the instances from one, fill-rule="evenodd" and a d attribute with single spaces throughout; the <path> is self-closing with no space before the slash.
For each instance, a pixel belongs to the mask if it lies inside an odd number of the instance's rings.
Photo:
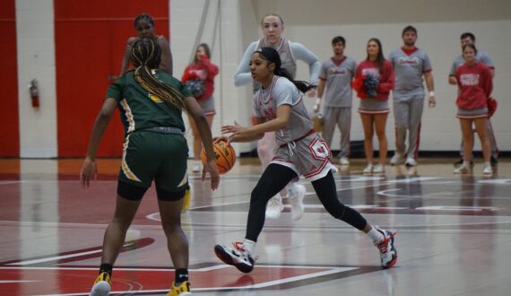
<path id="1" fill-rule="evenodd" d="M 152 74 L 185 97 L 192 96 L 183 83 L 169 74 L 157 70 Z M 184 191 L 188 145 L 181 111 L 143 89 L 134 80 L 134 71 L 111 84 L 107 97 L 117 100 L 125 129 L 119 181 L 147 188 L 154 179 L 157 188 Z"/>

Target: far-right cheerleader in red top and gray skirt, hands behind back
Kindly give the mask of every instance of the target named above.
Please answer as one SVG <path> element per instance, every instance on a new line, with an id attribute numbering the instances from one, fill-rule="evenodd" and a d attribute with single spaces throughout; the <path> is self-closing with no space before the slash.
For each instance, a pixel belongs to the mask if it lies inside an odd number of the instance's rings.
<path id="1" fill-rule="evenodd" d="M 477 49 L 472 43 L 463 46 L 464 64 L 455 72 L 458 83 L 458 97 L 456 106 L 463 135 L 463 163 L 455 169 L 455 174 L 470 170 L 470 155 L 472 155 L 473 134 L 472 122 L 481 140 L 482 155 L 484 158 L 484 175 L 492 175 L 493 170 L 489 162 L 490 144 L 486 126 L 488 125 L 488 102 L 493 90 L 491 71 L 487 65 L 479 62 L 475 57 Z"/>

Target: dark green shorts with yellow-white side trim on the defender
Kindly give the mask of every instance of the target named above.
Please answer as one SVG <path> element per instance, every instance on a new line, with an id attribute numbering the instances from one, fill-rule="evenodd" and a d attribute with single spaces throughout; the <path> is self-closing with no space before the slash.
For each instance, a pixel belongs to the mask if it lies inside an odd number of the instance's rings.
<path id="1" fill-rule="evenodd" d="M 119 181 L 178 192 L 186 189 L 188 145 L 183 135 L 137 131 L 127 135 Z"/>

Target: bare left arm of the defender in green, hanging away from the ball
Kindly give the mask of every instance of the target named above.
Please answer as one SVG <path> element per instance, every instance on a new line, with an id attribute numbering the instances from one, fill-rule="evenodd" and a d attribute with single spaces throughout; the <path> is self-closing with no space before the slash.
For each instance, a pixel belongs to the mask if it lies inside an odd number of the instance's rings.
<path id="1" fill-rule="evenodd" d="M 83 160 L 82 170 L 80 172 L 80 180 L 82 187 L 89 187 L 89 181 L 91 176 L 95 177 L 96 170 L 96 151 L 100 145 L 101 137 L 107 129 L 108 122 L 112 118 L 112 114 L 117 106 L 117 100 L 113 98 L 107 98 L 103 102 L 103 107 L 100 109 L 100 113 L 94 121 L 92 126 L 91 140 L 89 140 L 89 147 L 87 148 L 87 154 L 85 160 Z"/>

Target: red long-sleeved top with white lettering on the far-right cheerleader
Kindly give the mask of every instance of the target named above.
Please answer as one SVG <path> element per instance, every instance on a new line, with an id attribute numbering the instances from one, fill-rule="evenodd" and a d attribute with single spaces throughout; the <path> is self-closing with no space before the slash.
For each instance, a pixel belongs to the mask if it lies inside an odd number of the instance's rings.
<path id="1" fill-rule="evenodd" d="M 493 82 L 487 65 L 479 62 L 474 65 L 465 63 L 456 69 L 455 77 L 459 89 L 456 106 L 459 109 L 472 110 L 488 105 Z"/>

